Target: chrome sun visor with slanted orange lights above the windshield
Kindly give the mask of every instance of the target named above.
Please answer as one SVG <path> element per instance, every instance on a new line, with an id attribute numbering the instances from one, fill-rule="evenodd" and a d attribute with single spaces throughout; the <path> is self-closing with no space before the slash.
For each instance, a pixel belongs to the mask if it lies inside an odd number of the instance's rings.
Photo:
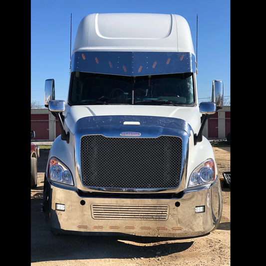
<path id="1" fill-rule="evenodd" d="M 195 55 L 191 52 L 74 52 L 71 72 L 90 72 L 124 76 L 195 73 Z"/>

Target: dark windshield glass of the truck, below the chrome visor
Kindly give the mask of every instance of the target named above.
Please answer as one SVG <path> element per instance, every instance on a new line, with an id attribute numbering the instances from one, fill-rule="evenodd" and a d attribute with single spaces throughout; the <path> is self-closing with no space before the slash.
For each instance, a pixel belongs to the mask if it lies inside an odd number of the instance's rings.
<path id="1" fill-rule="evenodd" d="M 120 76 L 72 72 L 70 105 L 194 103 L 193 73 Z"/>

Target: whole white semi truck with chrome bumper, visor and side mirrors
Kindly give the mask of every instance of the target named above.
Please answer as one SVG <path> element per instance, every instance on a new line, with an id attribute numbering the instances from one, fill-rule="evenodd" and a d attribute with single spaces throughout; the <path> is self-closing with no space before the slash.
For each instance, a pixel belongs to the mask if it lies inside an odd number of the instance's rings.
<path id="1" fill-rule="evenodd" d="M 198 102 L 190 27 L 176 14 L 85 16 L 71 54 L 67 102 L 45 81 L 58 117 L 43 215 L 55 234 L 192 238 L 215 230 L 222 192 Z"/>

